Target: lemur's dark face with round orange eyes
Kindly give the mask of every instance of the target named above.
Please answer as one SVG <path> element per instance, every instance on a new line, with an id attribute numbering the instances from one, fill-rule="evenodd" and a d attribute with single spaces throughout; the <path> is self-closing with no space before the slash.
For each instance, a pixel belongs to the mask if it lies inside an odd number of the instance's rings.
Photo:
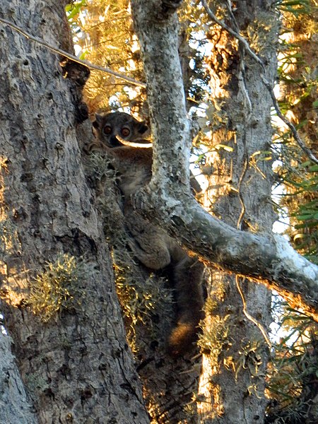
<path id="1" fill-rule="evenodd" d="M 122 146 L 124 141 L 132 143 L 149 143 L 148 126 L 124 112 L 96 114 L 93 122 L 95 137 L 107 147 Z"/>

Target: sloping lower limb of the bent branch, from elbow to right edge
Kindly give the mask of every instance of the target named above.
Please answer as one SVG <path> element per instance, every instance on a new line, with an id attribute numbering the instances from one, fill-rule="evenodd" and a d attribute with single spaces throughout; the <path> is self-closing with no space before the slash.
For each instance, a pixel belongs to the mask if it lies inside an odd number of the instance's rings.
<path id="1" fill-rule="evenodd" d="M 189 196 L 158 198 L 150 189 L 139 193 L 136 205 L 163 220 L 184 246 L 216 268 L 263 283 L 318 321 L 318 266 L 295 252 L 281 235 L 237 230 Z"/>

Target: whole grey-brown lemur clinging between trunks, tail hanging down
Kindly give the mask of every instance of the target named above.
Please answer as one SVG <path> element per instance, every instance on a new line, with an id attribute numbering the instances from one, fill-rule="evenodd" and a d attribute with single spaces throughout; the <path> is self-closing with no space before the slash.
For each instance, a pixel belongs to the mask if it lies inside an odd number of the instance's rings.
<path id="1" fill-rule="evenodd" d="M 111 156 L 120 175 L 118 187 L 124 199 L 124 219 L 134 237 L 134 254 L 151 270 L 172 269 L 172 284 L 177 303 L 177 325 L 169 336 L 169 351 L 179 355 L 192 349 L 197 326 L 203 317 L 201 288 L 204 266 L 190 257 L 165 230 L 141 217 L 131 206 L 134 194 L 151 179 L 152 148 L 148 126 L 123 112 L 96 114 L 93 122 L 96 143 Z M 127 143 L 127 144 L 124 144 Z M 134 143 L 131 145 L 131 143 Z"/>

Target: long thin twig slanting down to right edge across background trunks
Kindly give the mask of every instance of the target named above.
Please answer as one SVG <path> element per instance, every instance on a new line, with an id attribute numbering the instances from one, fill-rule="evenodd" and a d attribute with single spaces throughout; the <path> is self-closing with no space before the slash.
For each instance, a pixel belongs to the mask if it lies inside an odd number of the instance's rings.
<path id="1" fill-rule="evenodd" d="M 226 25 L 223 22 L 223 20 L 220 20 L 220 19 L 216 18 L 215 14 L 208 7 L 208 4 L 206 3 L 206 0 L 202 0 L 202 4 L 204 5 L 204 8 L 206 9 L 206 13 L 208 13 L 208 16 L 210 16 L 210 18 L 215 23 L 217 23 L 218 25 L 220 25 L 221 28 L 223 28 L 224 30 L 228 31 L 228 33 L 230 33 L 230 35 L 232 35 L 237 40 L 239 40 L 242 43 L 242 46 L 245 48 L 245 51 L 249 54 L 249 56 L 252 57 L 255 61 L 257 61 L 257 63 L 261 66 L 261 69 L 263 71 L 265 71 L 265 66 L 264 66 L 263 61 L 261 61 L 261 59 L 259 59 L 259 57 L 257 56 L 257 54 L 255 54 L 252 51 L 251 47 L 249 47 L 249 44 L 248 44 L 247 40 L 245 40 L 245 38 L 242 37 L 242 35 L 240 35 L 239 33 L 237 33 L 237 31 L 232 30 L 232 28 L 230 28 L 228 25 Z M 261 80 L 263 81 L 264 86 L 267 88 L 267 90 L 269 91 L 269 94 L 271 95 L 271 100 L 273 102 L 273 107 L 276 110 L 277 116 L 284 122 L 285 125 L 288 126 L 288 128 L 290 129 L 290 131 L 293 134 L 293 137 L 294 137 L 295 141 L 298 143 L 298 146 L 300 146 L 300 148 L 302 149 L 302 151 L 305 152 L 305 154 L 307 155 L 307 157 L 310 158 L 310 160 L 312 160 L 312 162 L 318 164 L 318 159 L 316 158 L 316 156 L 314 155 L 314 153 L 312 153 L 312 151 L 310 150 L 310 148 L 308 148 L 307 146 L 305 146 L 305 143 L 302 141 L 302 139 L 300 139 L 300 136 L 299 136 L 298 131 L 295 128 L 295 126 L 281 113 L 281 110 L 279 109 L 278 102 L 276 100 L 275 94 L 273 92 L 273 88 L 271 87 L 271 84 L 269 83 L 269 81 L 266 80 L 266 78 L 264 77 L 264 74 L 263 73 L 261 73 Z"/>

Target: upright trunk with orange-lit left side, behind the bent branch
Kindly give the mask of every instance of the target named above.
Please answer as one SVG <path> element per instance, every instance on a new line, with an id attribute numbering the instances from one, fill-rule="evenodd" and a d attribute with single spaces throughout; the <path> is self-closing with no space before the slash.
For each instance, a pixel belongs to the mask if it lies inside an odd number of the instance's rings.
<path id="1" fill-rule="evenodd" d="M 261 31 L 266 34 L 259 36 L 254 48 L 266 60 L 266 79 L 273 85 L 278 26 L 275 13 L 252 0 L 240 2 L 235 16 L 240 33 L 248 42 L 255 34 L 261 35 Z M 261 81 L 261 68 L 253 66 L 231 35 L 213 25 L 208 38 L 212 43 L 208 58 L 214 105 L 211 115 L 218 114 L 218 119 L 213 121 L 213 116 L 208 117 L 213 152 L 208 164 L 213 173 L 205 206 L 234 228 L 271 232 L 275 219 L 271 206 L 271 160 L 253 162 L 260 152 L 269 157 L 265 152 L 270 151 L 271 145 L 271 97 Z M 216 148 L 219 145 L 226 145 L 232 151 Z M 259 327 L 248 317 L 256 319 L 265 331 L 268 329 L 271 293 L 247 279 L 213 269 L 211 273 L 208 305 L 213 306 L 207 307 L 202 339 L 206 350 L 211 352 L 204 355 L 199 385 L 199 394 L 204 396 L 199 404 L 202 420 L 264 423 L 267 404 L 264 376 L 269 348 Z M 247 316 L 237 285 L 241 286 Z"/>

